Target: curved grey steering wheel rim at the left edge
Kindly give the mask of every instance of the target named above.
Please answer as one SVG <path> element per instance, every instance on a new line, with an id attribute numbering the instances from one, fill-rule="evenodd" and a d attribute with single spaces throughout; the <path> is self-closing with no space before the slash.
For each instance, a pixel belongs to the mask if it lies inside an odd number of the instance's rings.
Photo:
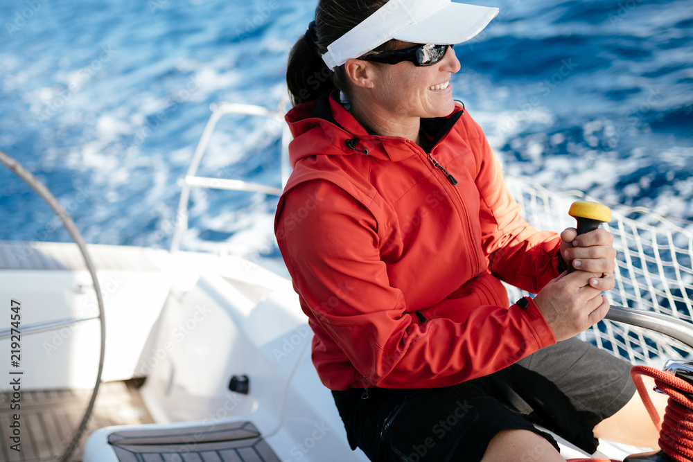
<path id="1" fill-rule="evenodd" d="M 77 229 L 76 224 L 72 221 L 72 219 L 64 210 L 64 208 L 60 206 L 60 202 L 58 202 L 58 199 L 55 199 L 55 196 L 53 196 L 51 191 L 49 191 L 48 188 L 46 188 L 46 186 L 44 186 L 44 184 L 41 183 L 41 181 L 36 179 L 36 177 L 34 177 L 34 175 L 32 175 L 31 172 L 26 170 L 26 168 L 21 166 L 19 162 L 17 162 L 15 159 L 12 159 L 12 157 L 8 156 L 8 154 L 1 150 L 0 162 L 3 163 L 12 172 L 14 172 L 15 175 L 17 175 L 17 177 L 24 180 L 26 184 L 31 186 L 31 188 L 33 188 L 33 190 L 35 190 L 36 193 L 40 195 L 42 199 L 44 199 L 46 204 L 48 204 L 49 207 L 51 207 L 53 213 L 55 213 L 55 215 L 58 215 L 58 218 L 60 218 L 60 221 L 62 222 L 63 226 L 65 227 L 65 229 L 67 229 L 67 232 L 70 234 L 70 237 L 72 238 L 73 242 L 75 242 L 77 247 L 79 247 L 80 253 L 82 254 L 82 257 L 85 260 L 85 265 L 87 265 L 87 269 L 89 269 L 91 281 L 94 282 L 94 290 L 96 290 L 96 301 L 98 302 L 98 319 L 101 327 L 101 346 L 98 359 L 98 372 L 96 373 L 96 383 L 94 384 L 94 389 L 92 389 L 91 391 L 91 400 L 89 400 L 89 405 L 87 406 L 84 416 L 82 416 L 82 422 L 80 423 L 80 426 L 78 427 L 76 432 L 73 434 L 69 445 L 60 455 L 60 462 L 67 462 L 72 453 L 74 452 L 75 447 L 77 447 L 80 438 L 82 438 L 82 434 L 87 428 L 87 421 L 91 416 L 91 411 L 94 409 L 94 402 L 96 402 L 98 387 L 101 383 L 101 375 L 103 373 L 103 359 L 105 357 L 106 350 L 106 321 L 103 309 L 103 297 L 101 296 L 101 289 L 98 285 L 98 278 L 96 277 L 96 268 L 94 267 L 94 263 L 91 262 L 91 258 L 89 257 L 89 252 L 87 251 L 87 245 L 85 244 L 84 238 L 82 238 L 82 234 Z"/>

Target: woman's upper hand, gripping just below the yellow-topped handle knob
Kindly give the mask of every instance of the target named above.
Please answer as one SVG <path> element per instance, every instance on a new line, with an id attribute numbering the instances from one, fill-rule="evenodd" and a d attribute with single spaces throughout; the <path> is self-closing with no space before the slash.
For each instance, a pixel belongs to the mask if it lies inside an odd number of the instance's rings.
<path id="1" fill-rule="evenodd" d="M 609 283 L 602 278 L 611 275 L 616 266 L 616 251 L 613 248 L 613 236 L 604 229 L 595 229 L 589 233 L 577 235 L 574 228 L 567 228 L 561 233 L 561 256 L 575 269 L 601 274 L 590 285 L 599 290 L 611 290 Z M 593 285 L 593 283 L 595 283 Z"/>

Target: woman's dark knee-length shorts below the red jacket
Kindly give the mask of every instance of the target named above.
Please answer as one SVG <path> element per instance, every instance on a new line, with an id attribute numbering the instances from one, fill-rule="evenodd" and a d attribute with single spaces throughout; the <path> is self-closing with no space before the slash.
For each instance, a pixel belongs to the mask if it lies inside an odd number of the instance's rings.
<path id="1" fill-rule="evenodd" d="M 631 364 L 578 339 L 486 377 L 437 389 L 333 391 L 349 443 L 374 462 L 480 461 L 504 429 L 542 425 L 595 452 L 597 423 L 635 393 Z"/>

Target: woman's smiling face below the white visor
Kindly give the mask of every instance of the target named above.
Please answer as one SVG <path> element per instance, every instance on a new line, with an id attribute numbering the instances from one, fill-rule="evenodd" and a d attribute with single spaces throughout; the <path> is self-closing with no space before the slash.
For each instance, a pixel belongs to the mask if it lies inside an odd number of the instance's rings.
<path id="1" fill-rule="evenodd" d="M 403 44 L 401 48 L 410 46 L 414 44 Z M 450 75 L 459 68 L 459 60 L 450 47 L 445 57 L 432 66 L 415 66 L 409 61 L 380 64 L 374 98 L 378 107 L 391 111 L 390 117 L 447 116 L 455 109 Z"/>

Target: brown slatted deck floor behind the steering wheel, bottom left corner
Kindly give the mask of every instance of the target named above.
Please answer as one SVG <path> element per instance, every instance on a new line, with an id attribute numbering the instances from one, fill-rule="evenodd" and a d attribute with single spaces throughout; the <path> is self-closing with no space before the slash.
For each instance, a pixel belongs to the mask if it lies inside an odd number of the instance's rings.
<path id="1" fill-rule="evenodd" d="M 7 412 L 0 414 L 0 459 L 8 462 L 44 462 L 58 460 L 91 398 L 91 390 L 22 391 L 19 414 L 20 449 L 11 450 L 11 393 L 0 393 L 0 403 Z M 14 412 L 12 411 L 12 414 Z M 139 396 L 137 382 L 106 382 L 101 384 L 94 411 L 87 423 L 80 445 L 71 462 L 82 460 L 85 441 L 91 432 L 108 425 L 153 423 Z"/>

